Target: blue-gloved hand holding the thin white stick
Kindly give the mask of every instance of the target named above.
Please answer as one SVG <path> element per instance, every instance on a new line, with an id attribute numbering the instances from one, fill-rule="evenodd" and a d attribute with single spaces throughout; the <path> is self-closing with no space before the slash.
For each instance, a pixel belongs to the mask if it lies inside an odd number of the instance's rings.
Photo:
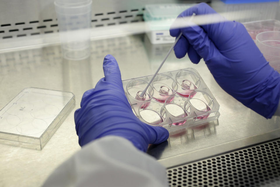
<path id="1" fill-rule="evenodd" d="M 216 13 L 205 3 L 197 4 L 178 18 Z M 179 19 L 177 19 L 178 22 Z M 244 25 L 235 21 L 170 29 L 183 33 L 174 47 L 177 58 L 188 53 L 193 63 L 204 59 L 217 83 L 230 95 L 260 115 L 271 118 L 280 98 L 279 73 L 268 64 Z"/>

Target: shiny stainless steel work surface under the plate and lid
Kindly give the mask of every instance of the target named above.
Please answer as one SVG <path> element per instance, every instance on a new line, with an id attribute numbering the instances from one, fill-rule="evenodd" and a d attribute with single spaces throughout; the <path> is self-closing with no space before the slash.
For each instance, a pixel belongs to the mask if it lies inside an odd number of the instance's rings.
<path id="1" fill-rule="evenodd" d="M 76 107 L 43 150 L 0 144 L 0 186 L 40 186 L 58 165 L 80 150 L 74 111 L 79 108 L 84 91 L 93 88 L 104 77 L 102 63 L 106 54 L 115 56 L 122 79 L 125 80 L 152 75 L 170 46 L 152 45 L 144 34 L 139 34 L 92 41 L 91 57 L 81 61 L 62 59 L 58 45 L 0 53 L 0 108 L 27 87 L 70 91 L 76 96 Z M 230 148 L 229 143 L 239 140 L 246 144 L 246 137 L 250 139 L 256 137 L 254 135 L 262 137 L 259 135 L 264 134 L 268 139 L 278 136 L 275 131 L 279 128 L 279 117 L 266 120 L 232 98 L 218 86 L 203 60 L 196 65 L 188 57 L 177 59 L 171 53 L 160 72 L 187 67 L 199 72 L 217 99 L 220 104 L 219 120 L 172 135 L 168 142 L 151 146 L 149 154 L 157 157 L 160 162 L 169 161 L 196 150 L 218 154 L 220 149 L 216 146 Z M 238 145 L 242 146 L 237 143 L 235 147 Z M 193 160 L 190 157 L 184 158 L 185 162 Z M 164 165 L 168 167 L 168 164 Z"/>

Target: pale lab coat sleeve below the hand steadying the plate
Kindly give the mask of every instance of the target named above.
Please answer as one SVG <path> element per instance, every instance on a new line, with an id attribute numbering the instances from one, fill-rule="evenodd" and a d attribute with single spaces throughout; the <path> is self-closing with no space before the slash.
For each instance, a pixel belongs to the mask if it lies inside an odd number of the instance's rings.
<path id="1" fill-rule="evenodd" d="M 105 136 L 74 154 L 43 184 L 46 186 L 165 187 L 165 168 L 125 138 Z"/>

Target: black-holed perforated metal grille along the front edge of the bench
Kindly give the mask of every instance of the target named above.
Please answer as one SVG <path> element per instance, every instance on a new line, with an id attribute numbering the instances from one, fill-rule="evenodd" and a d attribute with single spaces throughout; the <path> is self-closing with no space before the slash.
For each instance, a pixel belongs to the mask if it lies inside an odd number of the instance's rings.
<path id="1" fill-rule="evenodd" d="M 280 186 L 280 141 L 167 169 L 169 186 Z"/>

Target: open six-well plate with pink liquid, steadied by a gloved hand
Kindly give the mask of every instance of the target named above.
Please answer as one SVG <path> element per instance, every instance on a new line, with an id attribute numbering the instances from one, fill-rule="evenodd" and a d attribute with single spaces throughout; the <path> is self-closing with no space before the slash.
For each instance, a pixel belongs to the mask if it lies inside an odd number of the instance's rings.
<path id="1" fill-rule="evenodd" d="M 176 131 L 217 120 L 220 105 L 193 68 L 122 81 L 135 115 L 143 122 Z"/>

